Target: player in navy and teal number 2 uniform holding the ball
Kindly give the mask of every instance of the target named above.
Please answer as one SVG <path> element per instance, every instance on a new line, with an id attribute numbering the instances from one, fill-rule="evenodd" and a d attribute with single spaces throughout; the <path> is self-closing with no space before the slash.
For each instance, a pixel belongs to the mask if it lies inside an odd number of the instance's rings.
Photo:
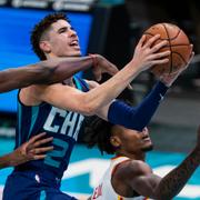
<path id="1" fill-rule="evenodd" d="M 161 97 L 172 81 L 158 82 L 150 96 L 138 108 L 112 101 L 141 71 L 157 63 L 166 63 L 169 51 L 157 52 L 166 46 L 162 41 L 151 47 L 160 36 L 144 43 L 139 41 L 132 60 L 116 76 L 99 86 L 94 81 L 70 79 L 51 86 L 30 86 L 19 92 L 19 113 L 16 147 L 37 132 L 53 137 L 53 151 L 43 160 L 16 167 L 8 178 L 3 199 L 74 199 L 62 193 L 60 181 L 68 168 L 73 146 L 78 139 L 83 116 L 97 114 L 113 123 L 143 129 L 154 113 Z M 80 57 L 76 31 L 62 13 L 53 13 L 41 20 L 32 31 L 34 52 L 41 60 L 58 57 Z M 89 90 L 91 89 L 91 90 Z M 161 97 L 160 97 L 161 96 Z M 146 114 L 143 114 L 146 111 Z M 16 182 L 23 182 L 18 187 Z M 11 189 L 12 188 L 12 189 Z"/>

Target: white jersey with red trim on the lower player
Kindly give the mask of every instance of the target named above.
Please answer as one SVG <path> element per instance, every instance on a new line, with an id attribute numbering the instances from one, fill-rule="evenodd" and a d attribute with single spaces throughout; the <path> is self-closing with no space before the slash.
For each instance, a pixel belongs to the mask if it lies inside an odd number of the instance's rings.
<path id="1" fill-rule="evenodd" d="M 124 162 L 127 160 L 129 160 L 129 158 L 127 157 L 118 157 L 111 160 L 109 169 L 103 174 L 98 187 L 94 188 L 91 200 L 148 200 L 148 198 L 144 198 L 142 196 L 133 198 L 121 197 L 112 188 L 111 178 L 114 168 L 119 163 Z"/>

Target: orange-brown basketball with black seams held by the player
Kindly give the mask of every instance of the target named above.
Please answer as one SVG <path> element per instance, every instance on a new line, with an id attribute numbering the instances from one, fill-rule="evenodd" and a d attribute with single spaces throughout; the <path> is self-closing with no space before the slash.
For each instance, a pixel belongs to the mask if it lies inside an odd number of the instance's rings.
<path id="1" fill-rule="evenodd" d="M 161 74 L 170 74 L 183 68 L 191 56 L 192 47 L 188 36 L 176 24 L 172 23 L 157 23 L 144 31 L 147 40 L 156 34 L 160 34 L 156 43 L 167 40 L 168 44 L 159 50 L 159 52 L 170 50 L 168 57 L 169 62 L 164 64 L 156 64 L 150 70 L 157 77 Z"/>

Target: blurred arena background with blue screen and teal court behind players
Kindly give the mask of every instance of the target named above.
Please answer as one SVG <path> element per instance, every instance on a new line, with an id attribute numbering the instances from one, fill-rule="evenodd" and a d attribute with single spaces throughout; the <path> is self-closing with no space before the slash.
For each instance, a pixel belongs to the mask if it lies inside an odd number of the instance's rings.
<path id="1" fill-rule="evenodd" d="M 194 59 L 169 90 L 150 123 L 154 151 L 147 161 L 166 174 L 196 144 L 200 121 L 200 2 L 198 0 L 0 0 L 0 70 L 37 62 L 31 50 L 31 28 L 52 11 L 68 13 L 78 32 L 82 54 L 100 53 L 121 69 L 132 57 L 143 31 L 151 24 L 178 24 L 194 47 Z M 90 70 L 80 73 L 91 79 Z M 108 77 L 104 77 L 106 80 Z M 146 71 L 132 81 L 137 102 L 149 92 L 154 77 Z M 0 94 L 0 156 L 13 149 L 17 91 Z M 76 147 L 62 190 L 88 197 L 109 164 L 109 156 Z M 12 169 L 0 171 L 0 191 Z M 1 194 L 0 194 L 1 197 Z M 200 170 L 192 176 L 177 200 L 200 199 Z"/>

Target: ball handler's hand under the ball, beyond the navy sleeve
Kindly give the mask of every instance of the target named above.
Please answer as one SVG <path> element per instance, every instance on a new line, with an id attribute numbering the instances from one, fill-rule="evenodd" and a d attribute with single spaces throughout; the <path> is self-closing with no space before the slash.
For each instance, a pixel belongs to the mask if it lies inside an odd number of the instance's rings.
<path id="1" fill-rule="evenodd" d="M 170 73 L 170 74 L 163 74 L 160 77 L 160 80 L 167 86 L 167 87 L 171 87 L 171 84 L 176 81 L 176 79 L 182 73 L 182 71 L 184 71 L 186 69 L 188 69 L 190 62 L 192 61 L 194 56 L 194 52 L 191 53 L 190 60 L 189 62 L 186 64 L 184 68 L 181 68 L 179 71 L 174 72 L 174 73 Z"/>

